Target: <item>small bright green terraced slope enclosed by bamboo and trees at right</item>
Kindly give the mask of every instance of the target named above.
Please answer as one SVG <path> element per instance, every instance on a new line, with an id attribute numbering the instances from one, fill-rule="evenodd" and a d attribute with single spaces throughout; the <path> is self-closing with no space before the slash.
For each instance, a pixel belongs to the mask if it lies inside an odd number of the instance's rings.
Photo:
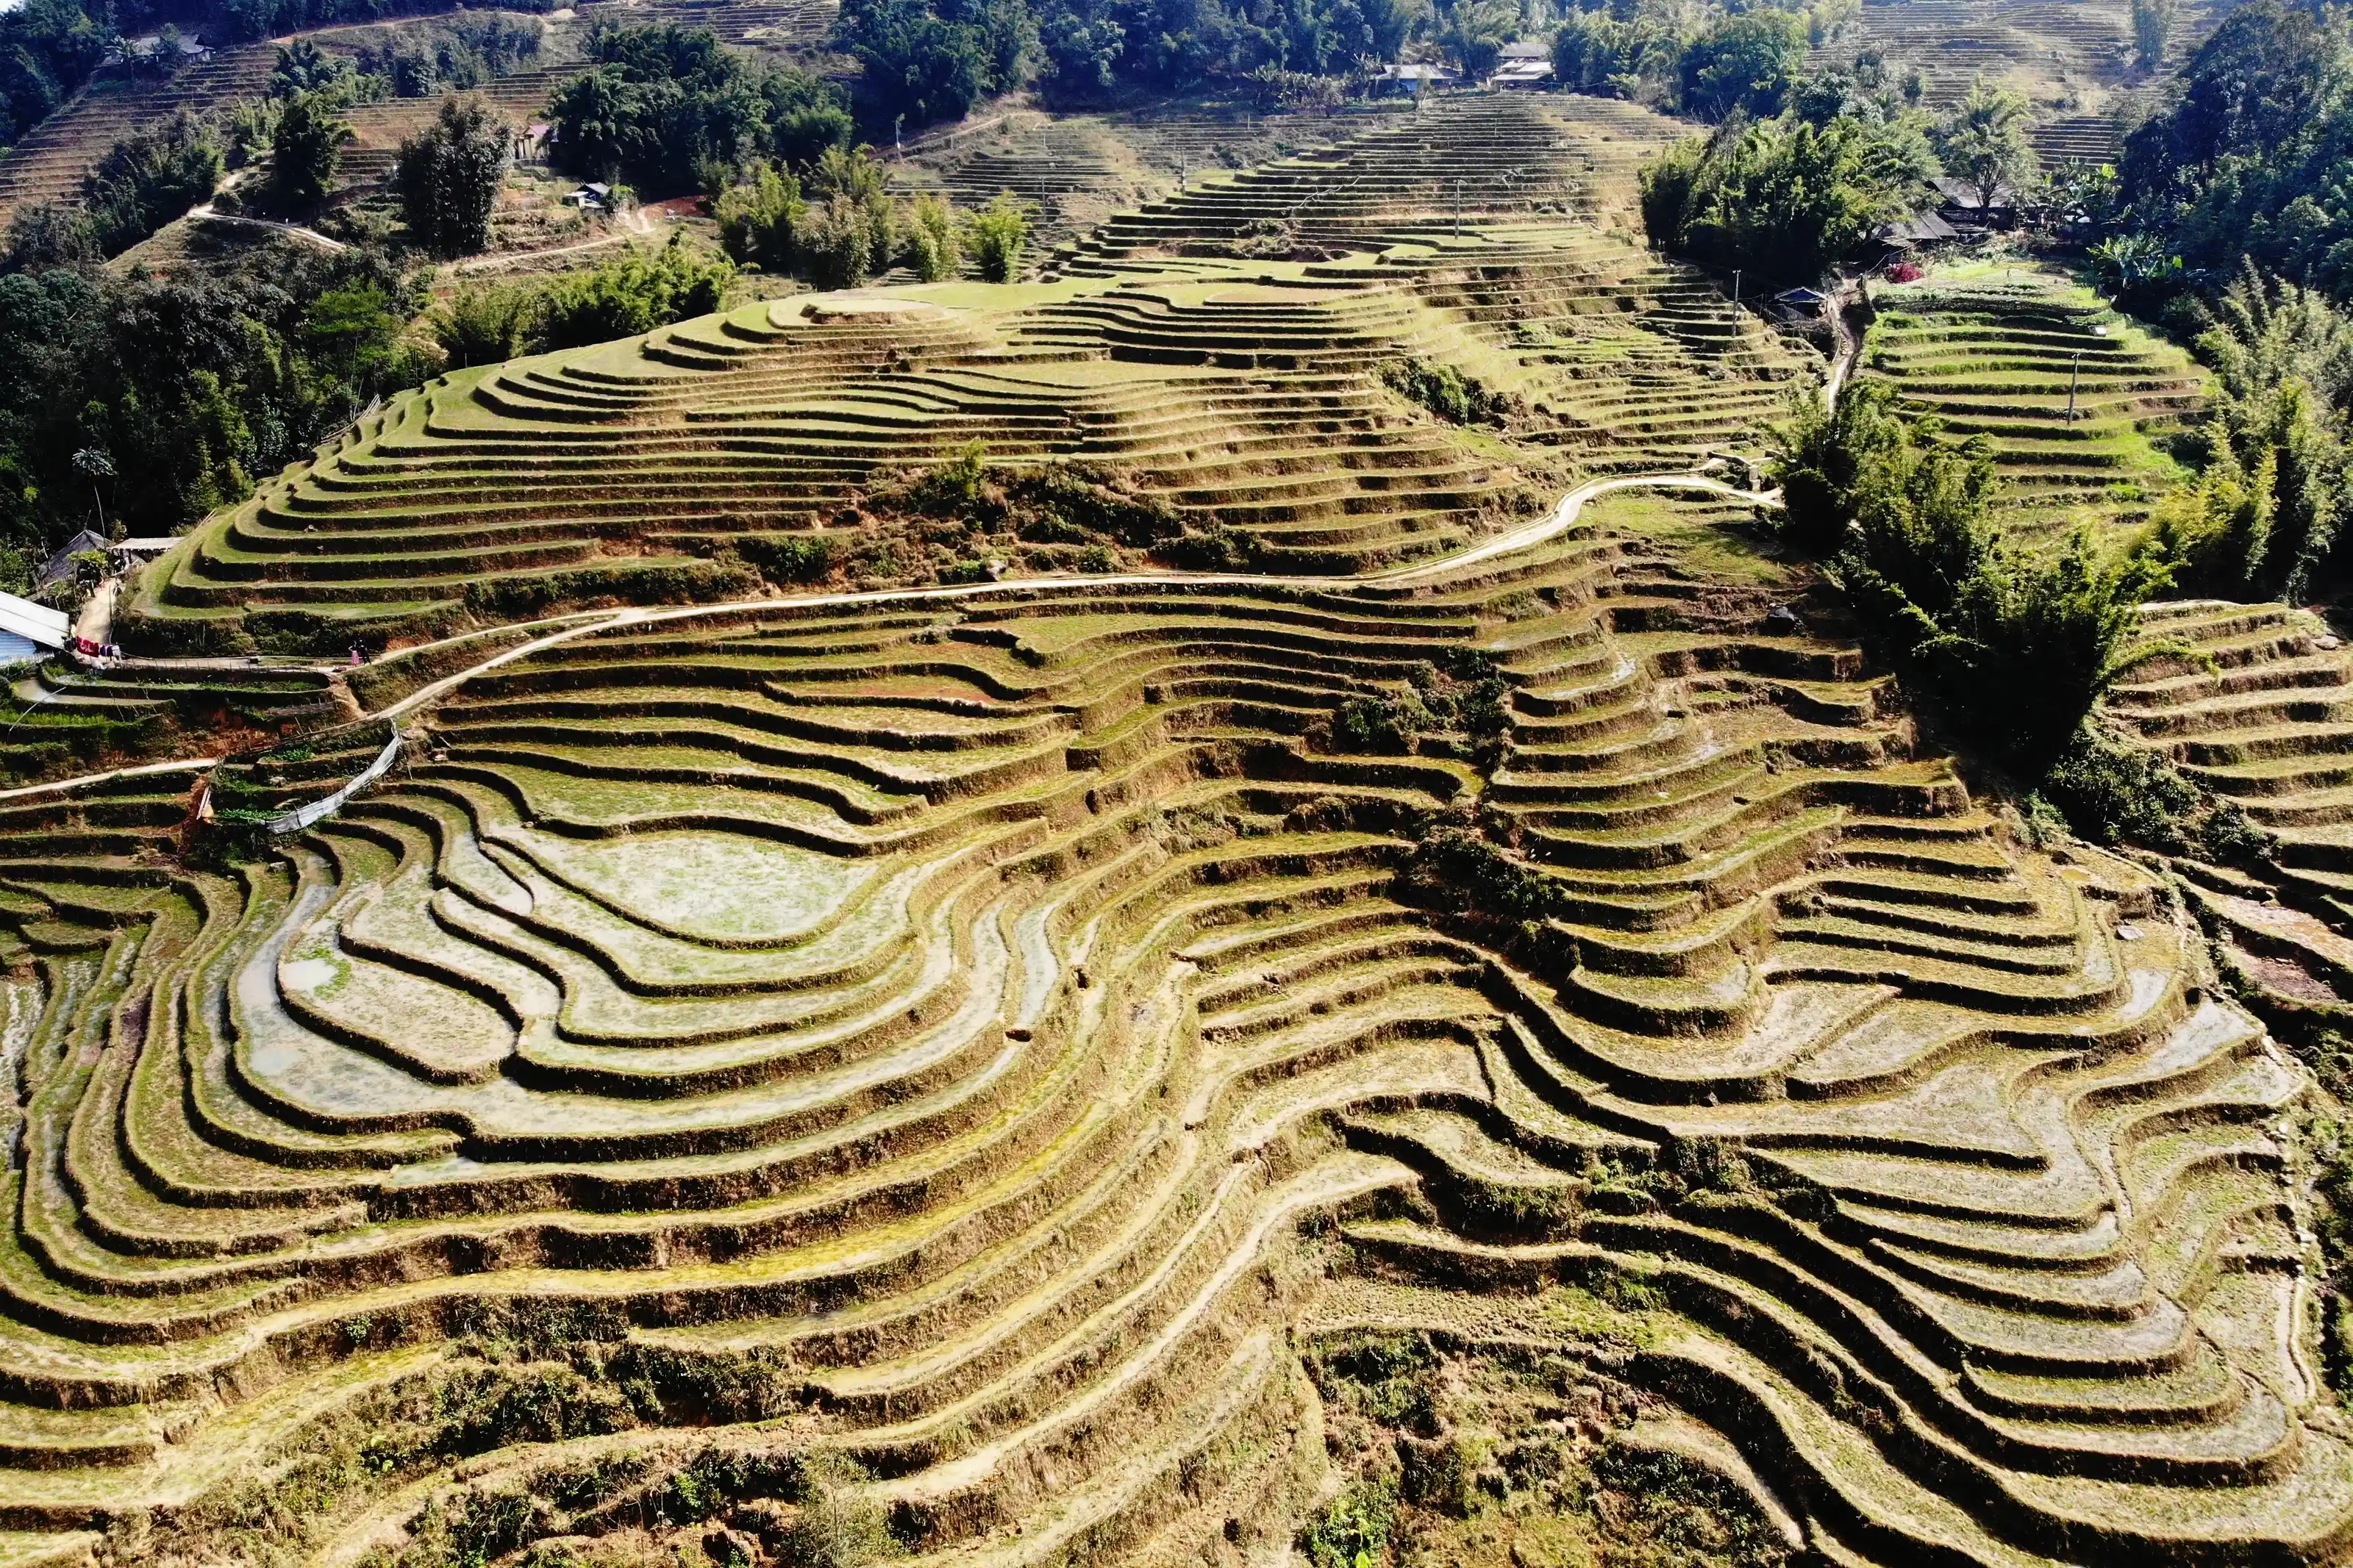
<path id="1" fill-rule="evenodd" d="M 1864 371 L 1948 435 L 1993 442 L 2014 527 L 2139 522 L 2179 477 L 2158 442 L 2198 421 L 2205 371 L 2089 289 L 1974 263 L 1875 289 L 1875 303 Z"/>

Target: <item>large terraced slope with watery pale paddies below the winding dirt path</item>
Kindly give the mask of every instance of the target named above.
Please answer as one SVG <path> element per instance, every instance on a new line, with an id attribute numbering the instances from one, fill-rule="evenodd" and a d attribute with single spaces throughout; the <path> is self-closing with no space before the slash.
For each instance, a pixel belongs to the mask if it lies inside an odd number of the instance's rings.
<path id="1" fill-rule="evenodd" d="M 2301 1072 L 1767 604 L 1572 522 L 687 609 L 402 710 L 405 776 L 216 870 L 186 771 L 0 799 L 9 1549 L 593 1361 L 635 1392 L 565 1441 L 280 1542 L 645 1540 L 680 1465 L 701 1528 L 845 1455 L 918 1561 L 1264 1559 L 1327 1486 L 1292 1326 L 1574 1286 L 1828 1561 L 2334 1552 Z M 1334 741 L 1480 672 L 1492 724 Z"/>

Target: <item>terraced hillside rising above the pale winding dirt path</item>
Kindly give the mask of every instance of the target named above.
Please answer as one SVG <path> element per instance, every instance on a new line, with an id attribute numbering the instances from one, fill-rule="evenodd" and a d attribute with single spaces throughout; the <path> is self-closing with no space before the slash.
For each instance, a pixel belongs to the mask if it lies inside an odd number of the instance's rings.
<path id="1" fill-rule="evenodd" d="M 1572 473 L 1755 451 L 1809 350 L 1544 212 L 1614 200 L 1633 146 L 1591 125 L 1466 101 L 1195 183 L 1052 259 L 1049 282 L 760 303 L 438 378 L 191 534 L 118 635 L 341 649 L 353 628 L 449 628 L 487 585 L 711 597 L 727 545 L 824 529 L 875 475 L 974 440 L 1012 465 L 1115 465 L 1186 529 L 1311 574 L 1447 550 Z M 1518 162 L 1480 160 L 1482 139 Z M 1485 179 L 1461 233 L 1431 212 L 1457 176 Z M 1287 226 L 1280 259 L 1235 256 L 1259 223 Z M 1527 414 L 1433 421 L 1381 383 L 1400 355 L 1464 364 Z"/>

